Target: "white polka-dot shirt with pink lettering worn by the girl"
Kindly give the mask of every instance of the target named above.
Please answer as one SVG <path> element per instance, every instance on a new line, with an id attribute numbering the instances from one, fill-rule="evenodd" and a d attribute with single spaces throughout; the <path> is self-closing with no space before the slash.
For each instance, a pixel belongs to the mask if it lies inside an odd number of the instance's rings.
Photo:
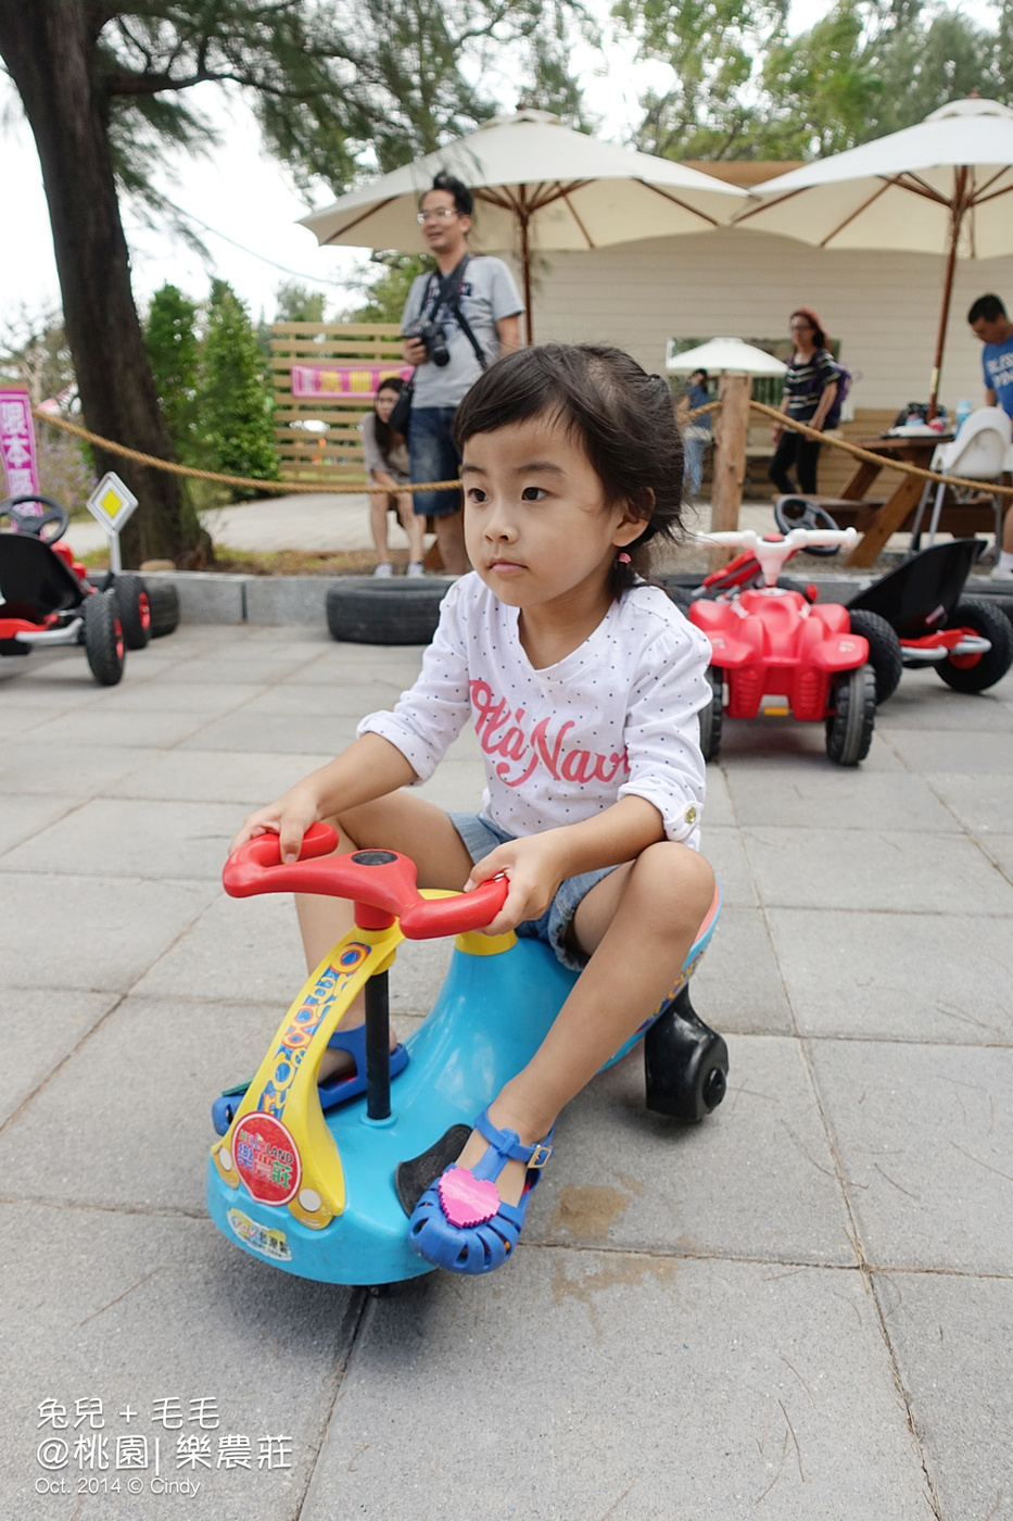
<path id="1" fill-rule="evenodd" d="M 659 587 L 636 586 L 572 654 L 535 671 L 517 618 L 478 575 L 462 576 L 415 684 L 357 733 L 382 735 L 424 782 L 470 716 L 482 814 L 508 834 L 576 824 L 633 794 L 657 808 L 669 840 L 698 849 L 704 634 Z"/>

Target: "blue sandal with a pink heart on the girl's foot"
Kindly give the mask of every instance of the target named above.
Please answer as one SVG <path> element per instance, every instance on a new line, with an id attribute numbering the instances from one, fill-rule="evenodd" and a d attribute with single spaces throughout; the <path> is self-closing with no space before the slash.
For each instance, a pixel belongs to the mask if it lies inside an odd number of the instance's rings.
<path id="1" fill-rule="evenodd" d="M 552 1132 L 537 1145 L 522 1145 L 516 1130 L 497 1130 L 488 1109 L 475 1121 L 488 1141 L 473 1168 L 449 1167 L 421 1196 L 408 1223 L 412 1252 L 450 1273 L 491 1273 L 502 1267 L 523 1229 L 528 1200 L 552 1156 Z M 508 1161 L 528 1165 L 519 1205 L 499 1197 L 496 1179 Z"/>

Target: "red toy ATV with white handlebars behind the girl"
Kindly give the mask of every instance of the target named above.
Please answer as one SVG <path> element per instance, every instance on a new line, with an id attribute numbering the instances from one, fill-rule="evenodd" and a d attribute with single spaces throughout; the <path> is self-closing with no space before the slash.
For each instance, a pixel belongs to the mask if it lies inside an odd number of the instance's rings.
<path id="1" fill-rule="evenodd" d="M 826 724 L 826 753 L 838 765 L 858 765 L 869 754 L 876 722 L 875 677 L 869 642 L 846 607 L 814 601 L 777 581 L 780 567 L 809 545 L 853 545 L 853 528 L 794 528 L 761 538 L 751 529 L 700 534 L 710 545 L 738 545 L 745 554 L 706 578 L 686 616 L 710 640 L 713 687 L 700 715 L 701 750 L 712 760 L 721 747 L 721 719 L 791 713 L 802 722 Z M 762 586 L 757 586 L 759 573 Z M 727 689 L 727 698 L 726 698 Z"/>

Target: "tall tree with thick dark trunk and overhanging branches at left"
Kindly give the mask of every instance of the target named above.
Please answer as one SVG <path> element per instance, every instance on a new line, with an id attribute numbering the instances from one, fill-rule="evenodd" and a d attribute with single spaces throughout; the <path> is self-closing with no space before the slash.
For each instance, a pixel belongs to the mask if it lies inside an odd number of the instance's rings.
<path id="1" fill-rule="evenodd" d="M 388 169 L 485 120 L 494 106 L 472 79 L 490 50 L 538 37 L 549 9 L 541 0 L 0 0 L 0 58 L 38 148 L 87 426 L 172 456 L 119 196 L 164 213 L 152 172 L 166 151 L 213 144 L 187 91 L 239 90 L 291 172 L 341 192 L 365 154 Z M 96 459 L 141 502 L 123 534 L 125 563 L 186 563 L 195 528 L 176 478 L 102 450 Z"/>

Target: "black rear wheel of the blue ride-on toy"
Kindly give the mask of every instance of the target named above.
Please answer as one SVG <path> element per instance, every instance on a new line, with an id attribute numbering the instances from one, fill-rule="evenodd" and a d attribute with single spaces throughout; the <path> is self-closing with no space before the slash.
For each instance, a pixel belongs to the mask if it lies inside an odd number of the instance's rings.
<path id="1" fill-rule="evenodd" d="M 643 1037 L 646 1106 L 683 1124 L 697 1124 L 718 1107 L 729 1086 L 729 1048 L 680 989 Z"/>

